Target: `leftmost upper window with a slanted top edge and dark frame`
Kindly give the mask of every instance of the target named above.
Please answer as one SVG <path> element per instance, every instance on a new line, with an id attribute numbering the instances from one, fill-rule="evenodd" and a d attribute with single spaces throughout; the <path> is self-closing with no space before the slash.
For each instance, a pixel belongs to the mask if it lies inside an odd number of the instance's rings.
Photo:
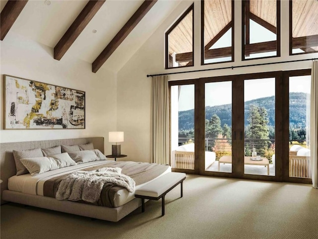
<path id="1" fill-rule="evenodd" d="M 165 33 L 165 68 L 193 66 L 192 4 Z"/>

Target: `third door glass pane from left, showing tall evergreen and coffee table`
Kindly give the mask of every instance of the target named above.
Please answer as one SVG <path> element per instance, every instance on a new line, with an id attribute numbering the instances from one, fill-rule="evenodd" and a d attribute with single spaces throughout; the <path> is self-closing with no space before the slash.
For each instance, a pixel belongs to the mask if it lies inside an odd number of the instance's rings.
<path id="1" fill-rule="evenodd" d="M 244 81 L 244 173 L 275 175 L 275 78 Z"/>

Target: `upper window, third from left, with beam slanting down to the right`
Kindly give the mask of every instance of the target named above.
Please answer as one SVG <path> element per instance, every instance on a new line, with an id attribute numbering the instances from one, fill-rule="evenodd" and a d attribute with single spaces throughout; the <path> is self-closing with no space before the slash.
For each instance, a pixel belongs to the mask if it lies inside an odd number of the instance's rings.
<path id="1" fill-rule="evenodd" d="M 280 56 L 280 0 L 242 1 L 242 60 Z"/>

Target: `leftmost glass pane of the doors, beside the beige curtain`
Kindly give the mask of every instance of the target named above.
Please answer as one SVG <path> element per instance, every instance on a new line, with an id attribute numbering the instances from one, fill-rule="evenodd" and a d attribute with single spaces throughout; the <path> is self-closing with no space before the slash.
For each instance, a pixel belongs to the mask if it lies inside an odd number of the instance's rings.
<path id="1" fill-rule="evenodd" d="M 194 85 L 171 86 L 171 166 L 194 170 Z"/>

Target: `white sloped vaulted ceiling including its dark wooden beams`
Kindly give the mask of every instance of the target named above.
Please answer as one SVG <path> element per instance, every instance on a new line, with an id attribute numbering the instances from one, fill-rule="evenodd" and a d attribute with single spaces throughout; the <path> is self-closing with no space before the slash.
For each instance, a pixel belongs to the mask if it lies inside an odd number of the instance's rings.
<path id="1" fill-rule="evenodd" d="M 57 60 L 68 55 L 92 63 L 92 72 L 118 71 L 180 2 L 0 0 L 1 40 L 16 33 L 54 48 Z M 6 26 L 12 17 L 16 20 Z"/>

